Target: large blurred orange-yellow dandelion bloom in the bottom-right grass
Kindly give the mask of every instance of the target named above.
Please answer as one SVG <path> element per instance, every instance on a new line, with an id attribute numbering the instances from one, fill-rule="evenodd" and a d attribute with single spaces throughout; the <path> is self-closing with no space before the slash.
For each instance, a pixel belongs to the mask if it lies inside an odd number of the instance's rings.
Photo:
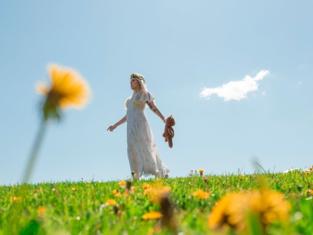
<path id="1" fill-rule="evenodd" d="M 280 192 L 261 190 L 253 192 L 231 192 L 224 195 L 213 207 L 208 217 L 211 229 L 246 229 L 248 215 L 255 215 L 263 228 L 275 221 L 287 220 L 291 209 L 290 202 Z"/>

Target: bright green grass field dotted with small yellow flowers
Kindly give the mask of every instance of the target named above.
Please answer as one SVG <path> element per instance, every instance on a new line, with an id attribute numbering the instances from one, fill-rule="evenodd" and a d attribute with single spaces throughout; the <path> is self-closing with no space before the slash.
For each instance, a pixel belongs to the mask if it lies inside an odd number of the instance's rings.
<path id="1" fill-rule="evenodd" d="M 190 177 L 123 183 L 81 181 L 1 186 L 0 235 L 313 234 L 313 173 L 204 177 L 196 173 Z M 171 215 L 175 218 L 174 229 L 166 224 L 169 218 L 162 211 L 164 205 L 144 193 L 147 187 L 144 183 L 170 186 L 168 198 L 174 208 Z M 208 216 L 226 193 L 265 188 L 285 195 L 291 204 L 288 219 L 260 227 L 258 217 L 249 215 L 244 231 L 236 232 L 227 225 L 218 230 L 209 228 Z M 208 194 L 203 198 L 195 196 L 199 189 Z M 143 219 L 148 212 L 161 212 L 163 219 Z"/>

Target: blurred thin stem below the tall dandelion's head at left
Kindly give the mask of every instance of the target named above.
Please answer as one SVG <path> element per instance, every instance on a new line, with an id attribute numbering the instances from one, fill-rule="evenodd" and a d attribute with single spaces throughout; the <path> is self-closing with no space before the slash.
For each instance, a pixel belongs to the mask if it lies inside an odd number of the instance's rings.
<path id="1" fill-rule="evenodd" d="M 29 155 L 29 159 L 28 159 L 28 163 L 27 163 L 27 167 L 26 170 L 24 172 L 24 176 L 23 176 L 23 182 L 24 183 L 28 183 L 29 178 L 31 176 L 32 170 L 34 168 L 36 159 L 37 159 L 37 155 L 38 155 L 38 151 L 39 148 L 41 146 L 42 140 L 43 140 L 43 136 L 45 134 L 45 128 L 46 128 L 46 120 L 45 118 L 42 118 L 41 124 L 40 124 L 40 128 L 38 130 L 36 139 L 35 139 L 35 143 L 33 145 L 33 148 L 31 150 L 31 153 Z"/>

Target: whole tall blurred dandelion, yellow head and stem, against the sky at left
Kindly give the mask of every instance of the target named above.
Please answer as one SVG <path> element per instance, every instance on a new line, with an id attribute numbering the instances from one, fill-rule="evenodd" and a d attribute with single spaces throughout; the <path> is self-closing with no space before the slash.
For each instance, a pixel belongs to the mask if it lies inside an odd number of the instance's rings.
<path id="1" fill-rule="evenodd" d="M 48 66 L 48 75 L 50 85 L 41 82 L 36 85 L 36 90 L 45 96 L 42 106 L 43 118 L 24 172 L 25 183 L 29 181 L 34 167 L 47 121 L 60 120 L 61 110 L 70 107 L 83 108 L 90 100 L 89 86 L 75 70 L 51 64 Z"/>

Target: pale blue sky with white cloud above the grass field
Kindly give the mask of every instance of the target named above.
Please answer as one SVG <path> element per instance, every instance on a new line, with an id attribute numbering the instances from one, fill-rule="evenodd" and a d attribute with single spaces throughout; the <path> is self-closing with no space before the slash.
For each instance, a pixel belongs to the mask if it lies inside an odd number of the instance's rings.
<path id="1" fill-rule="evenodd" d="M 50 63 L 71 67 L 92 99 L 50 122 L 31 182 L 131 178 L 126 110 L 132 73 L 164 116 L 145 112 L 169 176 L 313 164 L 311 0 L 0 2 L 0 184 L 21 183 L 40 125 Z"/>

